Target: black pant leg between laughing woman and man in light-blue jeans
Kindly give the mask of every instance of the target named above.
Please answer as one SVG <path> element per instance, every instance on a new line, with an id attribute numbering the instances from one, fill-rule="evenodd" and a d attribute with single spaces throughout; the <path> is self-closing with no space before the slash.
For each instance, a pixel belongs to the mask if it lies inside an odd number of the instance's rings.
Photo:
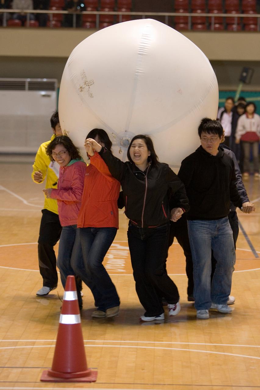
<path id="1" fill-rule="evenodd" d="M 177 222 L 170 221 L 169 247 L 173 244 L 173 240 L 175 237 L 180 246 L 182 247 L 184 255 L 186 257 L 186 275 L 188 277 L 187 294 L 192 295 L 194 288 L 193 264 L 188 235 L 187 218 L 185 214 L 183 214 Z"/>

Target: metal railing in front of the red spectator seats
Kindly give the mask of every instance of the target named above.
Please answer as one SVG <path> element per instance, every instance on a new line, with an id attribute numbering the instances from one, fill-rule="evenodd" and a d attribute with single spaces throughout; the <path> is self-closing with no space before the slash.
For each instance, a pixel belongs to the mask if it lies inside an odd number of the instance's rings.
<path id="1" fill-rule="evenodd" d="M 73 15 L 73 21 L 72 21 L 72 27 L 76 28 L 76 17 L 77 15 L 96 15 L 96 29 L 99 28 L 99 20 L 100 15 L 118 15 L 118 21 L 117 23 L 121 23 L 122 16 L 140 16 L 139 19 L 146 19 L 147 17 L 157 17 L 157 16 L 164 16 L 164 23 L 166 25 L 169 25 L 169 17 L 171 16 L 187 16 L 188 17 L 188 29 L 192 30 L 192 18 L 193 17 L 207 17 L 211 18 L 211 21 L 209 23 L 210 30 L 214 31 L 214 20 L 215 18 L 222 17 L 222 18 L 234 18 L 235 23 L 232 23 L 234 25 L 239 25 L 239 18 L 257 18 L 257 31 L 260 31 L 260 14 L 226 14 L 226 13 L 219 13 L 219 14 L 211 14 L 211 13 L 177 13 L 177 12 L 116 12 L 116 11 L 54 11 L 54 10 L 23 10 L 23 9 L 0 9 L 0 14 L 3 14 L 3 22 L 2 27 L 7 27 L 7 14 L 12 13 L 18 13 L 18 14 L 26 14 L 26 26 L 30 27 L 30 14 L 49 14 L 50 15 L 50 21 L 53 21 L 53 14 L 72 14 Z M 46 27 L 44 27 L 46 28 Z M 52 28 L 52 23 L 50 23 L 50 27 Z"/>

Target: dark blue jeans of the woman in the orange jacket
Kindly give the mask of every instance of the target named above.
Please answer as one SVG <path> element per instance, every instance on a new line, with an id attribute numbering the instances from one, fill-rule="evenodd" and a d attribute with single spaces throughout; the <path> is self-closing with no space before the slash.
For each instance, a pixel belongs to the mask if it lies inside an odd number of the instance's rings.
<path id="1" fill-rule="evenodd" d="M 98 310 L 106 311 L 110 307 L 119 306 L 120 300 L 116 287 L 102 264 L 116 237 L 117 229 L 115 227 L 80 227 L 78 230 L 84 263 L 80 264 L 79 259 L 78 264 L 75 265 L 73 261 L 77 275 L 91 289 Z"/>

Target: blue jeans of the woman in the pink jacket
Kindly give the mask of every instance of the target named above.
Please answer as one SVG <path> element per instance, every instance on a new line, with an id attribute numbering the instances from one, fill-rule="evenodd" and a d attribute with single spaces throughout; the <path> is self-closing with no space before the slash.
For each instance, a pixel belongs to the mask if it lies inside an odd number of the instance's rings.
<path id="1" fill-rule="evenodd" d="M 60 270 L 61 283 L 63 288 L 65 288 L 66 279 L 69 275 L 74 275 L 75 277 L 77 275 L 72 268 L 71 260 L 72 260 L 73 252 L 77 252 L 77 255 L 80 256 L 81 252 L 78 250 L 78 243 L 79 243 L 79 231 L 77 229 L 77 225 L 63 226 L 61 231 L 59 252 L 58 252 L 58 259 L 57 259 L 57 267 Z M 78 295 L 78 304 L 81 307 L 82 298 L 81 298 L 80 286 L 78 285 L 77 278 L 76 278 L 76 287 L 77 287 L 77 295 Z"/>

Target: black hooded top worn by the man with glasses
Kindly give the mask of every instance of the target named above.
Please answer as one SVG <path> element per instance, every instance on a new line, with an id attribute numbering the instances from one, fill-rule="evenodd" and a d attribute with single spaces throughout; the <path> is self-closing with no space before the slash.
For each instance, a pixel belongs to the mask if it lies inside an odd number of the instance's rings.
<path id="1" fill-rule="evenodd" d="M 178 176 L 190 202 L 188 220 L 217 220 L 230 212 L 230 201 L 241 207 L 233 160 L 219 147 L 212 156 L 200 146 L 182 161 Z"/>

